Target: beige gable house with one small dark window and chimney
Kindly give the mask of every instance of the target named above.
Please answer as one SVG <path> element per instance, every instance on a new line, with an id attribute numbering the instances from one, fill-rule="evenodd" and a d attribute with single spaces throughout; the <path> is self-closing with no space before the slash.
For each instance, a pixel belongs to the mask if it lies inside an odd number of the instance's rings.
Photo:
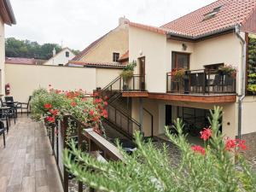
<path id="1" fill-rule="evenodd" d="M 108 63 L 119 64 L 119 58 L 128 50 L 129 26 L 125 17 L 119 18 L 119 26 L 96 39 L 69 63 Z"/>

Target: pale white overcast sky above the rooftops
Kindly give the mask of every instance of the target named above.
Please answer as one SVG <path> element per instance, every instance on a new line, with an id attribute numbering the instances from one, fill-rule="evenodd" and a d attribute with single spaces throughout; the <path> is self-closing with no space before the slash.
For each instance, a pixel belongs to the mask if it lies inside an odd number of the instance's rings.
<path id="1" fill-rule="evenodd" d="M 6 37 L 84 49 L 118 25 L 120 16 L 161 26 L 215 0 L 11 0 L 17 24 Z"/>

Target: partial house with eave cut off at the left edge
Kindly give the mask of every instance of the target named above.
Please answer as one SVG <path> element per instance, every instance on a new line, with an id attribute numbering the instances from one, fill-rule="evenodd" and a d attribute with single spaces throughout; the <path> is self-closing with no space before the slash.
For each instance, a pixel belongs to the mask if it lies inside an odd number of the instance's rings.
<path id="1" fill-rule="evenodd" d="M 0 94 L 4 94 L 4 61 L 5 61 L 5 39 L 4 24 L 15 25 L 15 15 L 9 0 L 0 0 Z"/>

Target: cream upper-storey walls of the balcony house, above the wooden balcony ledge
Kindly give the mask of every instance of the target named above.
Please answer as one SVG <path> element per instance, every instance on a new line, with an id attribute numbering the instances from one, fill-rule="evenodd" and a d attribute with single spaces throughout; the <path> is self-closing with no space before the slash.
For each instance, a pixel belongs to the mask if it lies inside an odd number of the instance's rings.
<path id="1" fill-rule="evenodd" d="M 244 36 L 244 33 L 241 33 Z M 183 50 L 182 44 L 187 45 Z M 236 34 L 230 33 L 198 43 L 166 40 L 166 35 L 147 30 L 129 28 L 130 61 L 146 58 L 146 89 L 166 93 L 166 73 L 172 69 L 172 51 L 190 53 L 190 69 L 203 69 L 205 65 L 223 63 L 237 67 L 241 72 L 241 44 Z M 137 67 L 138 68 L 138 67 Z M 138 72 L 138 71 L 137 71 Z M 237 80 L 237 90 L 241 84 Z"/>

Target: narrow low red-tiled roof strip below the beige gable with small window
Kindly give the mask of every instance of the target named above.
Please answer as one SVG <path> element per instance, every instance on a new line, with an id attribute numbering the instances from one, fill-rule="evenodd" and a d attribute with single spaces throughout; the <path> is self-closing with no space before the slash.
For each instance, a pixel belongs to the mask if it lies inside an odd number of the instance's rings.
<path id="1" fill-rule="evenodd" d="M 68 65 L 81 65 L 84 67 L 103 67 L 103 68 L 124 68 L 124 65 L 119 63 L 108 62 L 83 62 L 83 61 L 69 61 Z"/>

